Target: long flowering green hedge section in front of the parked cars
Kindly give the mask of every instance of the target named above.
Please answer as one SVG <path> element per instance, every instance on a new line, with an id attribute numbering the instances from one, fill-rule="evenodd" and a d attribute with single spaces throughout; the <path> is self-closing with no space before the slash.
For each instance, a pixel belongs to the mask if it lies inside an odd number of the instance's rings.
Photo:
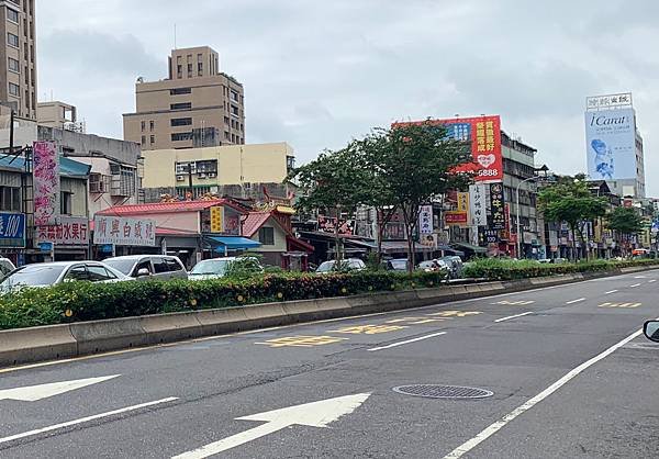
<path id="1" fill-rule="evenodd" d="M 437 272 L 362 271 L 246 280 L 71 282 L 0 296 L 0 329 L 436 287 L 443 280 Z"/>

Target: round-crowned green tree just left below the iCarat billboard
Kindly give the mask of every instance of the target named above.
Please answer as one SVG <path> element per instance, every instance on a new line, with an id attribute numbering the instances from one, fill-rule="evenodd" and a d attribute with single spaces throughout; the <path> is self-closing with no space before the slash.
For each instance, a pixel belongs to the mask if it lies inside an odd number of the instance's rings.
<path id="1" fill-rule="evenodd" d="M 545 219 L 567 223 L 572 234 L 579 236 L 582 247 L 585 247 L 587 223 L 604 216 L 608 206 L 604 198 L 590 192 L 583 176 L 558 178 L 538 193 L 538 203 Z M 578 254 L 576 238 L 572 238 L 572 250 Z"/>

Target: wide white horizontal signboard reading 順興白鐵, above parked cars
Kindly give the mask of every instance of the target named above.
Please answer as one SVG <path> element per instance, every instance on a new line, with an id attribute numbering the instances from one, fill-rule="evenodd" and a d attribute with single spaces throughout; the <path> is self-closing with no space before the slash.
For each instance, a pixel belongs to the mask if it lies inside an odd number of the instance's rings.
<path id="1" fill-rule="evenodd" d="M 93 219 L 93 243 L 154 247 L 156 245 L 156 223 L 146 219 L 97 216 Z"/>

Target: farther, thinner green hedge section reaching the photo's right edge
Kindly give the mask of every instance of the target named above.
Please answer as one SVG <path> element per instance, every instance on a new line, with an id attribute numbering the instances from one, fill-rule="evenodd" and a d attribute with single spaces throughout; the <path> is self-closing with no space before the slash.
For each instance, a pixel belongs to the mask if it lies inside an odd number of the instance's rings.
<path id="1" fill-rule="evenodd" d="M 659 265 L 659 260 L 593 260 L 566 262 L 560 265 L 539 264 L 532 260 L 502 260 L 483 258 L 465 267 L 466 278 L 487 278 L 492 280 L 528 279 L 541 276 L 569 275 L 574 272 L 601 272 L 633 266 Z"/>

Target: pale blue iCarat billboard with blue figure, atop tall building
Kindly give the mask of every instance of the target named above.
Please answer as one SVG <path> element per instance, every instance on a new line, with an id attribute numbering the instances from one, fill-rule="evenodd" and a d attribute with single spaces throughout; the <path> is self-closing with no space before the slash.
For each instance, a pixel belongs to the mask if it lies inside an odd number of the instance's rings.
<path id="1" fill-rule="evenodd" d="M 635 179 L 634 109 L 585 112 L 585 148 L 591 179 Z"/>

